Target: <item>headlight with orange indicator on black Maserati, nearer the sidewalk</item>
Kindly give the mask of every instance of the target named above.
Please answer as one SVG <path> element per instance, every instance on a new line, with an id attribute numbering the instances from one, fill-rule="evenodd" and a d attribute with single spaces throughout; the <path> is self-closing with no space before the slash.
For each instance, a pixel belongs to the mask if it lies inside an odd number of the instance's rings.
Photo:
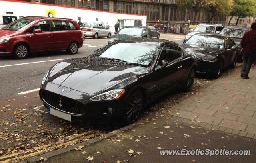
<path id="1" fill-rule="evenodd" d="M 124 89 L 114 89 L 91 98 L 92 101 L 117 100 L 124 94 Z"/>

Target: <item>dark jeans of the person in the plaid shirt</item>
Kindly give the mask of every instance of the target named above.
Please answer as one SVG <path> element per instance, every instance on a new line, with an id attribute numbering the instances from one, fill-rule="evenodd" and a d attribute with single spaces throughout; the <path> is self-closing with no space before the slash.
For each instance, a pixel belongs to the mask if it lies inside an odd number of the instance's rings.
<path id="1" fill-rule="evenodd" d="M 244 77 L 248 77 L 249 71 L 252 67 L 253 61 L 255 61 L 256 54 L 253 52 L 244 52 L 244 62 L 241 68 L 241 74 L 244 75 Z"/>

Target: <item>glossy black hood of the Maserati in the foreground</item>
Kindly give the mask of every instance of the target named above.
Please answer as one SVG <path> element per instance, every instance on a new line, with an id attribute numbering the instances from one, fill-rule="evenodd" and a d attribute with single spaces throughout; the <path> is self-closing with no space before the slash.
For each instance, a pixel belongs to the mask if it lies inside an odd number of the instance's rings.
<path id="1" fill-rule="evenodd" d="M 88 56 L 57 63 L 50 70 L 48 82 L 95 94 L 124 79 L 148 73 L 147 70 L 146 67 Z"/>

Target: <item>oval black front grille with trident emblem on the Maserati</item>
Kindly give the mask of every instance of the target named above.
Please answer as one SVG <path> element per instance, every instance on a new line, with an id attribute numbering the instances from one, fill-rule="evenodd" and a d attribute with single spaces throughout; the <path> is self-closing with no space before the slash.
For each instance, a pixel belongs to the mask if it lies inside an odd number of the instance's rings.
<path id="1" fill-rule="evenodd" d="M 42 99 L 54 108 L 72 114 L 84 114 L 86 112 L 85 106 L 76 100 L 49 92 L 47 90 L 41 91 Z"/>

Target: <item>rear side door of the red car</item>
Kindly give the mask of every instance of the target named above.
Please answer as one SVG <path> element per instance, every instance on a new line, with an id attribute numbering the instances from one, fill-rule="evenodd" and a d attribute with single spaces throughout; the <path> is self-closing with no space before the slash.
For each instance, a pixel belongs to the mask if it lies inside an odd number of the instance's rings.
<path id="1" fill-rule="evenodd" d="M 52 41 L 54 49 L 66 49 L 69 44 L 70 32 L 66 21 L 52 20 L 53 34 Z"/>

